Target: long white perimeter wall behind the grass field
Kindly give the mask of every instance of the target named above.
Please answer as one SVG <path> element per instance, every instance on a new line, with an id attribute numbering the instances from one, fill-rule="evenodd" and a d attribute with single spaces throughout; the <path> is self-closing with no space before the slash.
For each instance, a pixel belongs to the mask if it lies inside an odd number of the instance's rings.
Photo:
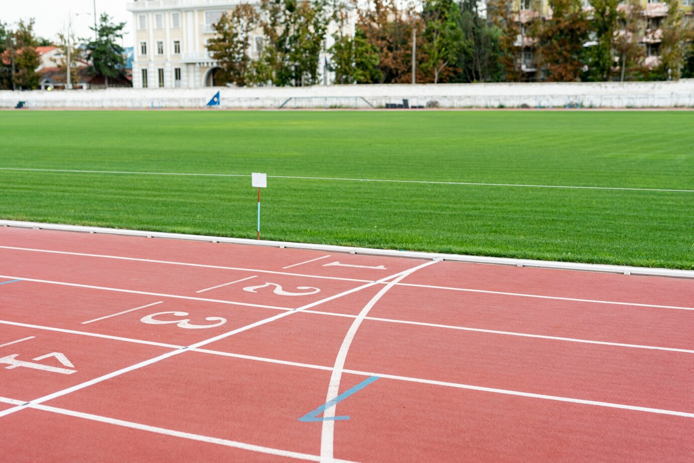
<path id="1" fill-rule="evenodd" d="M 207 87 L 31 92 L 0 91 L 0 107 L 202 108 L 216 92 L 222 108 L 382 107 L 386 103 L 441 107 L 694 107 L 694 79 L 627 83 L 477 83 L 418 85 L 316 85 L 314 87 Z"/>

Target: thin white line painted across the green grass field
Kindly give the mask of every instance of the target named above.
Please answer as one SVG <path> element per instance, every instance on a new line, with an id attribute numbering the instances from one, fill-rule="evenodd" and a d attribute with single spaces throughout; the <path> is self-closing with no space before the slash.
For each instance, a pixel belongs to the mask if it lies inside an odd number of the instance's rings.
<path id="1" fill-rule="evenodd" d="M 29 169 L 22 167 L 0 167 L 4 171 L 28 171 L 28 172 L 60 172 L 63 174 L 121 174 L 121 175 L 162 175 L 162 176 L 192 176 L 192 177 L 250 177 L 248 174 L 196 174 L 187 172 L 143 172 L 143 171 L 100 171 L 100 170 L 76 170 L 76 169 Z M 531 187 L 531 188 L 564 188 L 577 190 L 622 190 L 635 192 L 684 192 L 694 193 L 694 190 L 673 190 L 668 188 L 636 188 L 636 187 L 587 187 L 580 185 L 530 185 L 524 183 L 482 183 L 482 182 L 445 182 L 437 180 L 389 180 L 384 178 L 346 178 L 346 177 L 308 177 L 269 175 L 269 178 L 287 178 L 294 180 L 328 180 L 339 182 L 380 182 L 380 183 L 423 183 L 432 185 L 467 185 L 481 187 Z"/>

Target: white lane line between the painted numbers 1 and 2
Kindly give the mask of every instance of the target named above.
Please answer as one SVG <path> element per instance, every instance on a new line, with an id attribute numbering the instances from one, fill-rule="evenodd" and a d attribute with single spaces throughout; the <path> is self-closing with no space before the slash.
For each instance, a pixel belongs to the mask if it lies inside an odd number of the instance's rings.
<path id="1" fill-rule="evenodd" d="M 257 273 L 274 273 L 277 275 L 302 276 L 302 277 L 307 277 L 307 278 L 323 278 L 326 280 L 343 280 L 343 281 L 352 281 L 352 282 L 357 282 L 357 283 L 370 283 L 371 281 L 373 281 L 373 280 L 359 280 L 359 279 L 355 279 L 355 278 L 341 278 L 341 277 L 333 277 L 333 276 L 307 275 L 307 274 L 303 274 L 303 273 L 289 273 L 289 272 L 282 272 L 282 271 L 244 269 L 241 267 L 221 267 L 221 266 L 217 266 L 217 265 L 189 264 L 189 263 L 185 263 L 185 262 L 171 262 L 168 260 L 149 260 L 149 259 L 126 258 L 126 257 L 117 256 L 117 255 L 99 255 L 99 254 L 71 253 L 71 252 L 67 252 L 67 251 L 49 251 L 46 249 L 18 248 L 15 246 L 0 246 L 0 249 L 13 249 L 13 250 L 17 250 L 17 251 L 33 251 L 33 252 L 40 252 L 40 253 L 81 255 L 81 256 L 93 257 L 93 258 L 132 260 L 135 262 L 154 262 L 154 263 L 158 263 L 158 264 L 183 265 L 183 266 L 189 266 L 189 267 L 205 267 L 205 268 L 210 268 L 210 269 L 240 270 L 240 271 L 249 271 L 249 272 L 257 272 Z M 3 278 L 3 276 L 0 276 L 0 278 Z M 4 278 L 19 278 L 19 277 L 7 276 Z M 26 278 L 19 278 L 19 279 L 26 280 Z M 29 279 L 28 281 L 42 281 L 42 280 Z M 577 301 L 577 302 L 590 302 L 590 303 L 596 303 L 596 304 L 636 305 L 638 307 L 694 310 L 694 308 L 691 308 L 691 307 L 679 307 L 677 305 L 643 304 L 643 303 L 617 302 L 617 301 L 598 301 L 595 299 L 568 298 L 568 297 L 560 297 L 560 296 L 542 296 L 539 294 L 489 291 L 486 289 L 458 288 L 458 287 L 437 286 L 437 285 L 421 285 L 421 284 L 416 284 L 416 283 L 398 283 L 398 286 L 422 287 L 422 288 L 432 288 L 432 289 L 448 289 L 450 291 L 477 292 L 477 293 L 483 293 L 483 294 L 501 294 L 504 296 L 534 297 L 534 298 L 541 298 L 541 299 L 555 299 L 557 301 Z M 158 293 L 140 293 L 140 294 L 156 295 Z M 171 296 L 171 297 L 183 297 L 183 296 Z M 212 301 L 212 300 L 210 300 L 210 301 Z M 243 305 L 242 303 L 239 303 L 239 304 Z M 253 307 L 253 305 L 251 305 L 251 307 Z M 276 308 L 276 307 L 267 307 L 266 306 L 266 308 Z"/>

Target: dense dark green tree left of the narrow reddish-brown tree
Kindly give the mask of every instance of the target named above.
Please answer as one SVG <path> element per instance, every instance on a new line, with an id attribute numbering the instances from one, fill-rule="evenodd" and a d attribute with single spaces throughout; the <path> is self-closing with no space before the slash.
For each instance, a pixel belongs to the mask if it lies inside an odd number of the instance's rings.
<path id="1" fill-rule="evenodd" d="M 503 78 L 500 60 L 500 29 L 487 22 L 477 10 L 477 1 L 460 3 L 460 29 L 463 46 L 457 67 L 461 69 L 458 81 L 498 82 Z"/>

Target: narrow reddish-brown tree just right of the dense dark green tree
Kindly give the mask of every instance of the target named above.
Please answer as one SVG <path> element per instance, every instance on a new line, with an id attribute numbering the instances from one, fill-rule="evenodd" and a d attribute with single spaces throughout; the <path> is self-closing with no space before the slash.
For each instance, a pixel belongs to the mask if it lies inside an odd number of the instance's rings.
<path id="1" fill-rule="evenodd" d="M 517 42 L 517 37 L 521 35 L 521 28 L 516 22 L 518 12 L 514 10 L 514 0 L 489 0 L 486 8 L 487 17 L 491 19 L 491 26 L 496 28 L 499 34 L 498 60 L 504 69 L 505 81 L 520 82 L 523 78 L 521 69 L 523 48 Z"/>

